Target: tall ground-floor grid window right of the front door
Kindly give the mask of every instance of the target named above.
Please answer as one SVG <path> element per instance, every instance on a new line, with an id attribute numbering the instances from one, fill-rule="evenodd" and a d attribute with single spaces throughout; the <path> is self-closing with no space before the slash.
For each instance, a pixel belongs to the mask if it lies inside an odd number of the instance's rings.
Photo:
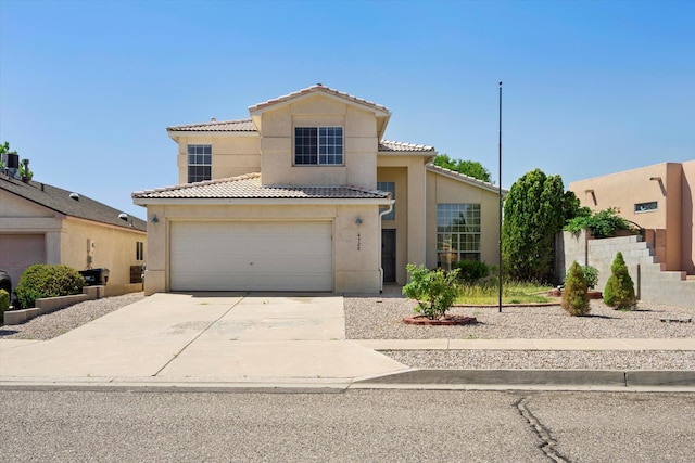
<path id="1" fill-rule="evenodd" d="M 437 261 L 451 270 L 459 260 L 480 261 L 480 204 L 437 205 Z"/>

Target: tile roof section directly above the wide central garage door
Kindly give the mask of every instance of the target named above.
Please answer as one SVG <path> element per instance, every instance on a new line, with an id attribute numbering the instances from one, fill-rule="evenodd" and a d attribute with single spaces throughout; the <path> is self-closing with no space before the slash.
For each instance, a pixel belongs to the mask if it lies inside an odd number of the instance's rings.
<path id="1" fill-rule="evenodd" d="M 261 173 L 186 183 L 132 193 L 134 198 L 388 198 L 390 193 L 357 187 L 300 187 L 263 185 Z"/>

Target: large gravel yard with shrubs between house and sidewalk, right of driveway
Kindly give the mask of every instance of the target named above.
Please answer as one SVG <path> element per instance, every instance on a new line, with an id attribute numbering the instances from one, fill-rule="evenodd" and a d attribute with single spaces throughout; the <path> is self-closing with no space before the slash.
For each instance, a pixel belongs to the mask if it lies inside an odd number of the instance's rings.
<path id="1" fill-rule="evenodd" d="M 661 318 L 695 318 L 695 310 L 640 301 L 632 311 L 614 310 L 591 301 L 589 317 L 570 317 L 558 306 L 455 307 L 453 314 L 475 317 L 478 323 L 462 326 L 415 326 L 402 322 L 414 314 L 416 304 L 403 297 L 345 297 L 349 339 L 581 339 L 695 337 L 690 323 L 662 322 Z"/>

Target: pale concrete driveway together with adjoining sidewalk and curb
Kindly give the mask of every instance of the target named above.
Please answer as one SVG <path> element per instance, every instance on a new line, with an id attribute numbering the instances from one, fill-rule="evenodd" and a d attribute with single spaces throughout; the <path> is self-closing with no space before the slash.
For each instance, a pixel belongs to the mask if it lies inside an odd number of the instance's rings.
<path id="1" fill-rule="evenodd" d="M 695 350 L 695 339 L 349 340 L 344 325 L 337 295 L 156 294 L 50 340 L 0 339 L 0 387 L 695 390 L 695 372 L 413 370 L 377 352 Z"/>

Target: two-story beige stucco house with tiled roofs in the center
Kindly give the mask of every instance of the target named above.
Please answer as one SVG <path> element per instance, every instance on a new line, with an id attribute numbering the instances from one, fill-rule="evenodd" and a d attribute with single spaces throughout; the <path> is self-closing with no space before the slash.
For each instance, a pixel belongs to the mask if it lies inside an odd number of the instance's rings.
<path id="1" fill-rule="evenodd" d="M 383 140 L 387 107 L 316 85 L 249 112 L 167 128 L 180 184 L 132 194 L 147 294 L 374 293 L 408 262 L 497 263 L 500 189 Z"/>

